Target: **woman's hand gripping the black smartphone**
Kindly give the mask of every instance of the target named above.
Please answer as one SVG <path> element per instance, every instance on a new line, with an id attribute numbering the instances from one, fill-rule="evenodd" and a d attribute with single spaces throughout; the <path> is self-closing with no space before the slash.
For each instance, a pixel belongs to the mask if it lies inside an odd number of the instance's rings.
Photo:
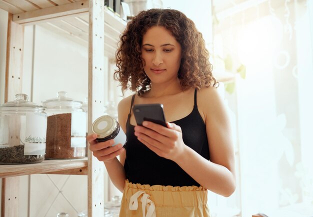
<path id="1" fill-rule="evenodd" d="M 183 154 L 186 145 L 182 140 L 180 126 L 169 122 L 166 122 L 166 126 L 143 121 L 142 126 L 135 126 L 135 135 L 157 155 L 176 162 Z"/>

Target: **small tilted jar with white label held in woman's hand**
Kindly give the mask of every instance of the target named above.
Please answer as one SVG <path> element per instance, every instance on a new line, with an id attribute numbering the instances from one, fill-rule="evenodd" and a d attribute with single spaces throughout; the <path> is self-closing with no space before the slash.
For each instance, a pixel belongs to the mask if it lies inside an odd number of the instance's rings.
<path id="1" fill-rule="evenodd" d="M 95 139 L 97 142 L 114 139 L 114 145 L 121 143 L 123 146 L 126 143 L 126 135 L 119 127 L 118 122 L 110 115 L 103 115 L 93 121 L 91 130 L 98 136 Z"/>

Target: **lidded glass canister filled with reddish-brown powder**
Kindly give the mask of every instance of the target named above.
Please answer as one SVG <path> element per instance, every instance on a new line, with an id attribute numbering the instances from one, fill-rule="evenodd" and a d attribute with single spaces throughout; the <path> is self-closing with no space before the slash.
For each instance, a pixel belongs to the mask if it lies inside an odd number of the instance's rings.
<path id="1" fill-rule="evenodd" d="M 46 107 L 46 159 L 75 159 L 85 157 L 86 112 L 82 102 L 57 92 L 57 97 L 43 101 Z"/>

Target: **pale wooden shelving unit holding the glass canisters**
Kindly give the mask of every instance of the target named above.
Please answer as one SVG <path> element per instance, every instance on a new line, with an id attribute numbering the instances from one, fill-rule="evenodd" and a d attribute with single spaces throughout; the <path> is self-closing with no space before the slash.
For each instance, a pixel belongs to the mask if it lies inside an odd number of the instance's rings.
<path id="1" fill-rule="evenodd" d="M 104 56 L 113 58 L 126 22 L 104 6 L 104 0 L 0 0 L 8 12 L 4 100 L 21 92 L 24 25 L 37 24 L 88 47 L 88 131 L 102 114 Z M 18 215 L 19 175 L 53 173 L 88 175 L 88 216 L 103 216 L 102 162 L 92 156 L 0 165 L 1 217 Z"/>

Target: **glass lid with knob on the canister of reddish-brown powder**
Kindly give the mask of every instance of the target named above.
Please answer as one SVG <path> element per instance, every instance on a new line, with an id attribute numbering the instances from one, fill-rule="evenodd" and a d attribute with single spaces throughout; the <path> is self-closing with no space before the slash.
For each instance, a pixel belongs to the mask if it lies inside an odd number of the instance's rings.
<path id="1" fill-rule="evenodd" d="M 51 98 L 42 102 L 46 108 L 81 108 L 82 101 L 76 101 L 67 97 L 66 91 L 59 91 L 56 98 Z"/>

